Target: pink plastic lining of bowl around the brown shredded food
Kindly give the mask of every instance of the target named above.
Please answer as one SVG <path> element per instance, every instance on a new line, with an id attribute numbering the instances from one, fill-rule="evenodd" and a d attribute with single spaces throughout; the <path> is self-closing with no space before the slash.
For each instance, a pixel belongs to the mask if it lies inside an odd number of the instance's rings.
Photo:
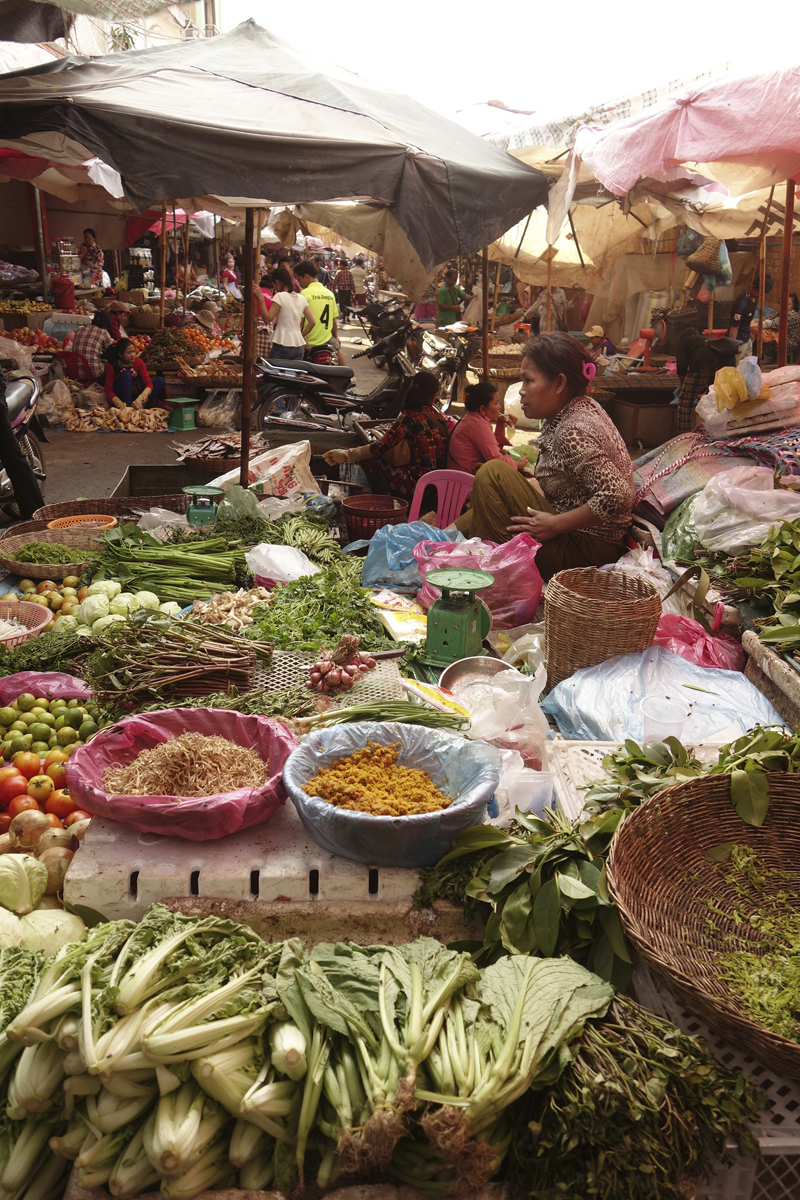
<path id="1" fill-rule="evenodd" d="M 263 787 L 240 787 L 222 796 L 164 797 L 108 796 L 103 772 L 131 762 L 180 733 L 218 734 L 236 745 L 253 748 L 270 764 Z M 283 766 L 297 743 L 289 730 L 265 716 L 245 716 L 218 708 L 170 708 L 127 716 L 109 725 L 67 762 L 70 794 L 92 816 L 108 817 L 139 829 L 190 841 L 225 838 L 260 824 L 287 798 Z"/>

